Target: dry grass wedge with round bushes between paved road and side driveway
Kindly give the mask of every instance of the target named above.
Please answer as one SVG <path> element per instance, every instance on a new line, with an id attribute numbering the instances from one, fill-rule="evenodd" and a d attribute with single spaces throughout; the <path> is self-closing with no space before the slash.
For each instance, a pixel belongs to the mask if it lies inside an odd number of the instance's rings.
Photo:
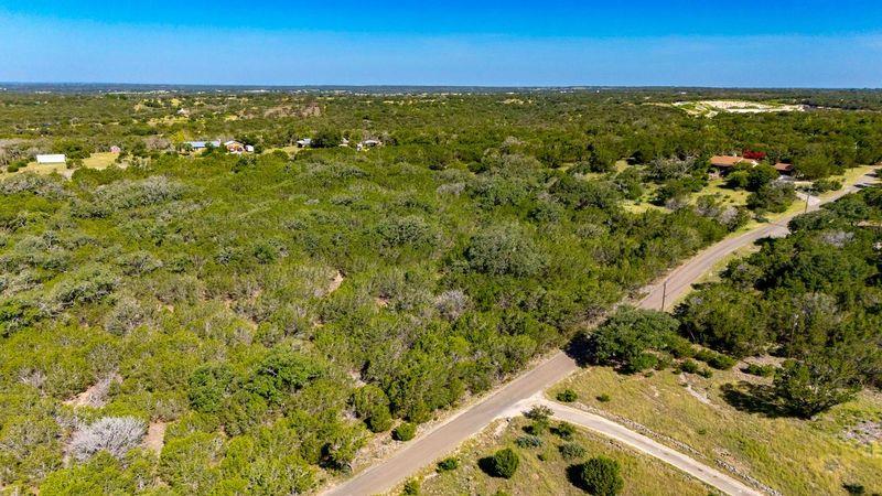
<path id="1" fill-rule="evenodd" d="M 577 431 L 573 440 L 570 441 L 579 443 L 585 449 L 585 456 L 580 460 L 563 460 L 558 446 L 564 441 L 548 432 L 541 436 L 541 446 L 517 448 L 515 440 L 524 434 L 523 428 L 527 422 L 521 417 L 513 419 L 510 423 L 501 420 L 485 429 L 481 434 L 467 441 L 455 454 L 460 459 L 459 468 L 440 474 L 435 473 L 434 466 L 424 471 L 419 476 L 422 479 L 420 494 L 493 495 L 504 492 L 509 495 L 525 496 L 584 495 L 584 492 L 570 484 L 567 478 L 567 467 L 596 455 L 612 457 L 622 465 L 622 476 L 625 479 L 625 487 L 622 492 L 624 495 L 707 495 L 710 490 L 699 481 L 676 468 L 619 446 L 589 431 Z M 517 473 L 508 481 L 491 477 L 477 465 L 478 460 L 503 448 L 514 449 L 520 459 Z M 539 455 L 542 455 L 545 461 L 539 460 Z M 391 494 L 400 493 L 392 492 Z"/>

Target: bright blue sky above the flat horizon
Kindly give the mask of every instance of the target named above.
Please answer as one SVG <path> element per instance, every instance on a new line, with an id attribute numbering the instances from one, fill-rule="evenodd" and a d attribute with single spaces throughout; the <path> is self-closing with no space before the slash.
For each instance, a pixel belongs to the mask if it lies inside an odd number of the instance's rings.
<path id="1" fill-rule="evenodd" d="M 0 0 L 0 61 L 14 82 L 880 87 L 882 1 Z"/>

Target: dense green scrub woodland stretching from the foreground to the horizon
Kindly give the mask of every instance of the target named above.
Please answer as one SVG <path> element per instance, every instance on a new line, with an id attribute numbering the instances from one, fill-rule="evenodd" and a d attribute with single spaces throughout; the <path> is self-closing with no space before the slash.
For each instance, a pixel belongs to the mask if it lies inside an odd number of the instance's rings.
<path id="1" fill-rule="evenodd" d="M 713 118 L 665 105 L 680 98 L 0 95 L 0 487 L 310 490 L 372 431 L 412 435 L 743 226 L 744 206 L 687 201 L 711 154 L 761 150 L 807 180 L 882 160 L 873 93 Z M 314 148 L 287 148 L 303 137 Z M 258 153 L 183 145 L 216 138 Z M 119 166 L 80 166 L 111 145 Z M 14 172 L 49 151 L 69 180 Z M 759 214 L 787 197 L 774 179 L 743 185 Z M 658 208 L 626 207 L 648 191 Z M 774 348 L 794 376 L 845 357 L 846 391 L 879 386 L 878 346 L 853 364 L 880 338 L 880 237 L 861 224 L 879 214 L 867 192 L 799 217 L 663 326 Z M 772 303 L 803 294 L 817 320 Z"/>

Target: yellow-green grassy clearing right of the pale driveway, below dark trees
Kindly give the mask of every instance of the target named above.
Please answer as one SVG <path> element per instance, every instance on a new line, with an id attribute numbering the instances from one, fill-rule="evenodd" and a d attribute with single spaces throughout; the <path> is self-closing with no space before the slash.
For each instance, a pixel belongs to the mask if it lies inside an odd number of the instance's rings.
<path id="1" fill-rule="evenodd" d="M 882 440 L 861 444 L 846 439 L 861 421 L 882 422 L 882 397 L 862 393 L 811 421 L 770 418 L 725 401 L 720 387 L 739 380 L 767 379 L 735 369 L 704 379 L 670 370 L 626 376 L 595 367 L 557 385 L 549 396 L 571 388 L 580 405 L 609 412 L 712 466 L 736 467 L 783 494 L 845 494 L 842 484 L 854 483 L 868 493 L 882 490 Z M 596 400 L 601 395 L 610 401 Z"/>

